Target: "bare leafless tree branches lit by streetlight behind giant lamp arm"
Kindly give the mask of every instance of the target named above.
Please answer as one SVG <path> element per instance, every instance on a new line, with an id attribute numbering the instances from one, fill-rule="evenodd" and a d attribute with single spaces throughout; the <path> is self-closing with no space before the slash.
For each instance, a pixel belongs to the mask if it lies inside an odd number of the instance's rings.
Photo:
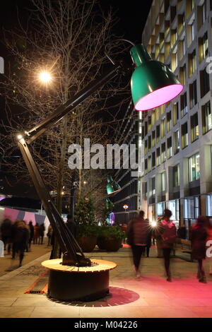
<path id="1" fill-rule="evenodd" d="M 29 11 L 28 21 L 22 25 L 19 20 L 17 29 L 5 31 L 6 47 L 13 56 L 2 91 L 7 118 L 1 147 L 6 155 L 13 155 L 17 150 L 15 136 L 18 132 L 40 123 L 102 73 L 103 66 L 108 63 L 105 45 L 109 45 L 114 57 L 120 47 L 120 42 L 113 42 L 117 37 L 112 34 L 115 23 L 112 13 L 105 15 L 98 1 L 30 1 L 33 10 Z M 37 79 L 44 70 L 52 73 L 48 85 L 42 85 Z M 119 102 L 113 100 L 114 95 L 119 95 Z M 125 101 L 126 85 L 120 87 L 117 78 L 33 143 L 33 155 L 49 190 L 57 190 L 60 211 L 62 188 L 69 188 L 71 182 L 67 146 L 81 144 L 86 137 L 90 138 L 90 143 L 99 143 L 99 138 L 100 143 L 108 142 L 108 129 L 117 121 L 117 114 Z M 21 158 L 16 165 L 10 163 L 7 166 L 8 172 L 18 174 L 24 182 L 29 180 Z M 79 194 L 83 191 L 83 178 L 88 179 L 88 173 L 89 170 L 78 172 Z"/>

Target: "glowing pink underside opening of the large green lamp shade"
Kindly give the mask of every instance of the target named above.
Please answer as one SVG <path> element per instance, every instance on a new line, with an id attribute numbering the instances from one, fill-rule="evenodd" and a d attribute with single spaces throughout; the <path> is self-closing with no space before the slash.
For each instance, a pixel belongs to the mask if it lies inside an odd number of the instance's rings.
<path id="1" fill-rule="evenodd" d="M 137 111 L 146 111 L 155 107 L 161 106 L 166 102 L 174 99 L 183 90 L 183 85 L 172 84 L 167 85 L 164 88 L 149 93 L 145 97 L 142 97 L 135 105 Z"/>

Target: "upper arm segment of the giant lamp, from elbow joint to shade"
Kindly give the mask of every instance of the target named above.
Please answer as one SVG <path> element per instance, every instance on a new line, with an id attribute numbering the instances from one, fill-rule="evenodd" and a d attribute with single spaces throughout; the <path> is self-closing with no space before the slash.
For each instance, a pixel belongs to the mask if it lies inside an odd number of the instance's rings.
<path id="1" fill-rule="evenodd" d="M 68 114 L 70 111 L 75 109 L 81 102 L 86 100 L 92 93 L 94 93 L 102 85 L 110 81 L 112 78 L 120 75 L 120 73 L 127 73 L 130 71 L 130 68 L 124 64 L 123 61 L 112 66 L 106 73 L 104 73 L 100 78 L 89 83 L 86 88 L 83 88 L 81 92 L 77 93 L 72 99 L 65 102 L 63 105 L 60 105 L 55 109 L 55 111 L 49 115 L 45 120 L 41 121 L 40 124 L 37 124 L 33 129 L 27 131 L 28 136 L 27 143 L 30 144 L 35 141 L 41 134 L 43 134 L 50 126 L 56 124 L 59 120 Z"/>

